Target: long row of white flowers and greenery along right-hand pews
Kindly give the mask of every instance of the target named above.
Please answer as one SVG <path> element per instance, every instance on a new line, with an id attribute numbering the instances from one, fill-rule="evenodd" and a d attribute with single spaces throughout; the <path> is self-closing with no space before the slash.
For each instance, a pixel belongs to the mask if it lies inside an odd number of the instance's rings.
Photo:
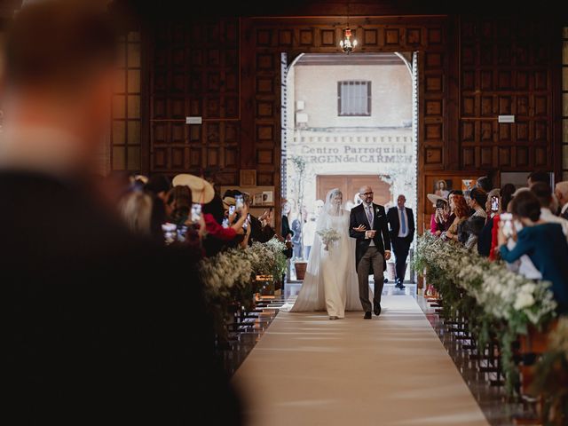
<path id="1" fill-rule="evenodd" d="M 501 361 L 509 392 L 517 384 L 512 343 L 528 326 L 540 328 L 555 316 L 548 282 L 533 282 L 500 262 L 470 252 L 454 241 L 424 233 L 418 238 L 414 271 L 425 274 L 442 296 L 446 315 L 469 320 L 478 346 L 501 339 Z"/>

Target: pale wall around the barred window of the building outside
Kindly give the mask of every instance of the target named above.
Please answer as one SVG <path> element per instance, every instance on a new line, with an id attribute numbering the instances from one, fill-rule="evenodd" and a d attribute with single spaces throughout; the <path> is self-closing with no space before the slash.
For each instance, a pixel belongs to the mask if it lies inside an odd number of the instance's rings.
<path id="1" fill-rule="evenodd" d="M 296 66 L 295 99 L 304 100 L 308 127 L 400 127 L 412 119 L 412 84 L 404 65 Z M 340 117 L 337 82 L 371 82 L 371 115 Z M 291 124 L 291 123 L 290 123 Z"/>

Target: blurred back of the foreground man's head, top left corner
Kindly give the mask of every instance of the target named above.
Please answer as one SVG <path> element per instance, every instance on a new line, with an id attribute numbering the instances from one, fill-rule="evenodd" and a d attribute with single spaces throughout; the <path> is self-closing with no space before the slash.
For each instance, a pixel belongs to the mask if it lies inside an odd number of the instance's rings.
<path id="1" fill-rule="evenodd" d="M 18 12 L 5 36 L 7 87 L 81 91 L 114 65 L 114 27 L 90 3 L 52 0 Z"/>

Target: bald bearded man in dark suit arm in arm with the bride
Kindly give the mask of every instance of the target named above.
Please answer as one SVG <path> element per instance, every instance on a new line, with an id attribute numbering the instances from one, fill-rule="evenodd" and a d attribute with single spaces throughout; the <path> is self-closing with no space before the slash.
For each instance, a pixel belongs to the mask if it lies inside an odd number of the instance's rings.
<path id="1" fill-rule="evenodd" d="M 390 237 L 384 207 L 373 202 L 370 186 L 359 189 L 363 201 L 351 209 L 349 233 L 355 238 L 355 262 L 359 277 L 359 299 L 365 311 L 365 319 L 371 319 L 371 308 L 375 315 L 381 314 L 381 293 L 383 292 L 386 261 L 390 259 Z M 373 270 L 375 296 L 369 301 L 369 273 Z"/>

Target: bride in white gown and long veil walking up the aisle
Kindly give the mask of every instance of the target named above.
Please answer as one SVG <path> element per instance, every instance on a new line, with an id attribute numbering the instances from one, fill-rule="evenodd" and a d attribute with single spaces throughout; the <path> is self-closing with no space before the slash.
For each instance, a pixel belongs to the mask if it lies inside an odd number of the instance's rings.
<path id="1" fill-rule="evenodd" d="M 323 244 L 319 231 L 335 230 L 339 239 Z M 370 290 L 369 290 L 370 291 Z M 286 312 L 327 311 L 329 319 L 345 317 L 345 311 L 361 311 L 355 270 L 355 241 L 349 236 L 349 211 L 343 209 L 343 193 L 332 189 L 316 225 L 316 237 L 308 259 L 304 284 Z"/>

